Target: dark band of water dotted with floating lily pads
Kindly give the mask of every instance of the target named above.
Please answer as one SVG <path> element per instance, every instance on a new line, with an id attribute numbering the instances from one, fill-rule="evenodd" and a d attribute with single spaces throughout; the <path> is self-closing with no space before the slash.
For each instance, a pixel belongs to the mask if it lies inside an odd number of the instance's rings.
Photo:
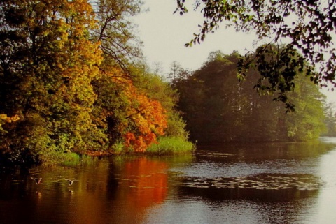
<path id="1" fill-rule="evenodd" d="M 262 200 L 285 202 L 314 197 L 320 183 L 316 177 L 306 175 L 260 175 L 230 179 L 186 179 L 181 186 L 182 195 L 199 195 L 204 200 Z"/>

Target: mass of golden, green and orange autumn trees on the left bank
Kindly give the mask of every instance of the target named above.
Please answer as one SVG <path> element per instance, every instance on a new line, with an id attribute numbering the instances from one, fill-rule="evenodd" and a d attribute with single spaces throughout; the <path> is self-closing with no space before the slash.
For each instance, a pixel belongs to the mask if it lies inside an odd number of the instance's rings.
<path id="1" fill-rule="evenodd" d="M 146 151 L 162 135 L 186 140 L 176 93 L 132 66 L 140 43 L 126 17 L 141 1 L 92 4 L 0 2 L 1 158 L 56 163 L 71 152 Z M 144 88 L 145 77 L 161 89 Z"/>

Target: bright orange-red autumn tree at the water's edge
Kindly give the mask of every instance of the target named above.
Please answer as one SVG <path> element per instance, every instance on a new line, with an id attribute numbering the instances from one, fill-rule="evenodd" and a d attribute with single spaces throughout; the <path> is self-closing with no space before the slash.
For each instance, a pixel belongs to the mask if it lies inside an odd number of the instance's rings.
<path id="1" fill-rule="evenodd" d="M 98 96 L 95 121 L 105 128 L 110 147 L 122 142 L 129 151 L 146 151 L 159 135 L 164 135 L 165 108 L 134 87 L 123 70 L 104 68 L 95 86 Z"/>

